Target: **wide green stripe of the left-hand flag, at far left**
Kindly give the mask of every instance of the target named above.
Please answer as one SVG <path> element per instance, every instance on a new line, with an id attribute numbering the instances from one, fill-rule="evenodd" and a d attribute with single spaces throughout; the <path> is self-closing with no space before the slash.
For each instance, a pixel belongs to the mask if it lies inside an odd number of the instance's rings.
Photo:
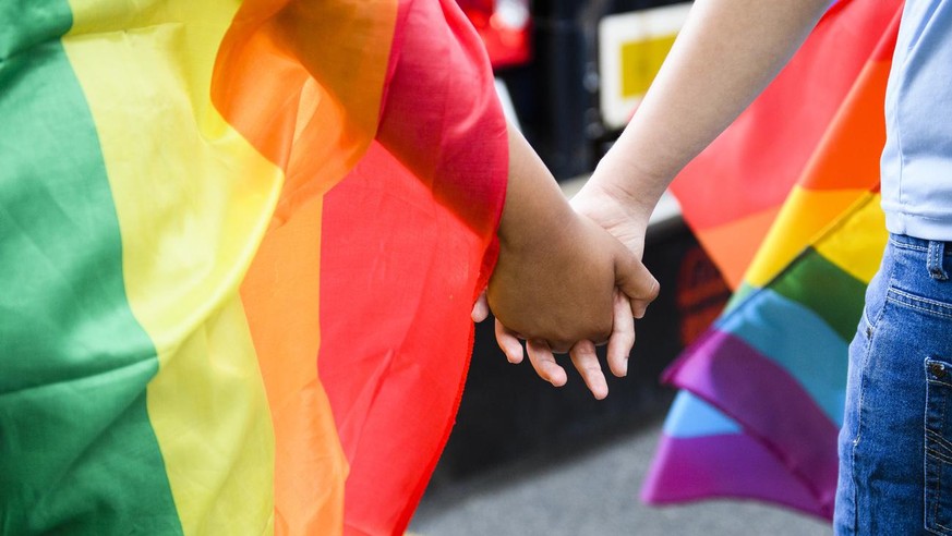
<path id="1" fill-rule="evenodd" d="M 181 533 L 146 413 L 156 351 L 129 308 L 95 126 L 58 38 L 69 4 L 3 5 L 0 533 Z"/>

